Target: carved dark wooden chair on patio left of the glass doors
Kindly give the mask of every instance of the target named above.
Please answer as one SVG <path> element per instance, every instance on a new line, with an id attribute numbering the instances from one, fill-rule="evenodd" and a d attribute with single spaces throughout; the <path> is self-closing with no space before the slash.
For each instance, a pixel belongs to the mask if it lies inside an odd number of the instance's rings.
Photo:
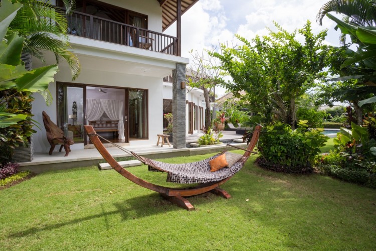
<path id="1" fill-rule="evenodd" d="M 51 121 L 50 116 L 47 115 L 45 111 L 42 112 L 43 114 L 43 123 L 45 124 L 45 129 L 47 133 L 47 140 L 50 143 L 51 148 L 49 155 L 52 155 L 52 152 L 55 149 L 56 145 L 61 145 L 59 152 L 64 147 L 65 150 L 65 157 L 68 156 L 69 152 L 71 151 L 70 145 L 74 144 L 73 139 L 68 139 L 64 136 L 63 130 L 61 130 L 54 122 Z"/>

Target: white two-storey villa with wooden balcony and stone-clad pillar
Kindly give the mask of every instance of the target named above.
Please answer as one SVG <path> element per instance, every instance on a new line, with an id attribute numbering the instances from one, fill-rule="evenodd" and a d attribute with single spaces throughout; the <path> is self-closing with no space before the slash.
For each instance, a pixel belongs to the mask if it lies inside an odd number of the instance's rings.
<path id="1" fill-rule="evenodd" d="M 47 106 L 42 96 L 35 94 L 33 113 L 41 130 L 33 136 L 34 152 L 48 153 L 50 148 L 42 111 L 74 137 L 72 151 L 90 147 L 83 126 L 91 123 L 114 123 L 116 132 L 102 133 L 112 142 L 155 144 L 163 129 L 167 85 L 171 94 L 166 99 L 171 100 L 174 117 L 173 147 L 185 148 L 186 133 L 199 131 L 204 123 L 200 118 L 205 117 L 200 93 L 200 99 L 186 101 L 185 67 L 189 59 L 180 56 L 180 17 L 197 1 L 77 0 L 76 11 L 68 17 L 68 31 L 81 74 L 72 81 L 68 65 L 62 62 L 49 86 L 52 105 Z M 56 5 L 62 6 L 60 0 Z M 175 21 L 176 37 L 163 34 Z M 46 55 L 46 61 L 55 63 L 54 55 Z M 34 60 L 33 67 L 39 66 L 41 62 Z M 172 83 L 163 84 L 163 78 L 171 74 Z M 186 114 L 187 106 L 192 108 L 191 116 Z M 189 122 L 192 128 L 186 128 L 190 117 L 196 120 Z"/>

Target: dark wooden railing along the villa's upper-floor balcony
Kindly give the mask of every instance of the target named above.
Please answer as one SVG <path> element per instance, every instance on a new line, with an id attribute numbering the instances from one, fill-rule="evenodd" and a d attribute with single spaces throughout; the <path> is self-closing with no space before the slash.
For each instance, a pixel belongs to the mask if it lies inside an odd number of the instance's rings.
<path id="1" fill-rule="evenodd" d="M 67 19 L 71 35 L 177 55 L 177 39 L 172 36 L 81 12 L 74 12 Z"/>

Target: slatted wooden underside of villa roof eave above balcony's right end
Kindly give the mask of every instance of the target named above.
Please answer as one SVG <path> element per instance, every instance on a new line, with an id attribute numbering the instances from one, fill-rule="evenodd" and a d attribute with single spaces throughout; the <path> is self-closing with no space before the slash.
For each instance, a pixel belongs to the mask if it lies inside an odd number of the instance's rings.
<path id="1" fill-rule="evenodd" d="M 157 0 L 162 7 L 162 30 L 166 30 L 176 21 L 177 0 Z M 181 15 L 194 6 L 199 0 L 181 0 Z"/>

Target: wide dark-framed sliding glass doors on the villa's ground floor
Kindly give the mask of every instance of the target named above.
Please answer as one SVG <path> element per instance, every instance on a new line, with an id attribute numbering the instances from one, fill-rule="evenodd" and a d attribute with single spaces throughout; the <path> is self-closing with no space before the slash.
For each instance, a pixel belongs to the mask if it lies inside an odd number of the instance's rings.
<path id="1" fill-rule="evenodd" d="M 94 118 L 93 111 L 87 106 L 88 100 L 101 104 L 102 109 L 94 111 L 98 113 L 94 114 Z M 121 102 L 122 107 L 113 107 L 115 101 Z M 114 143 L 148 139 L 147 107 L 147 90 L 57 83 L 57 124 L 75 143 L 89 144 L 84 137 L 84 125 L 89 124 L 89 120 L 100 129 L 98 132 L 101 132 L 102 137 Z M 101 127 L 103 123 L 114 121 L 118 121 L 116 133 L 112 132 L 112 128 L 110 132 L 107 127 Z M 123 127 L 119 127 L 119 123 L 123 123 Z M 124 133 L 119 130 L 124 130 Z"/>

